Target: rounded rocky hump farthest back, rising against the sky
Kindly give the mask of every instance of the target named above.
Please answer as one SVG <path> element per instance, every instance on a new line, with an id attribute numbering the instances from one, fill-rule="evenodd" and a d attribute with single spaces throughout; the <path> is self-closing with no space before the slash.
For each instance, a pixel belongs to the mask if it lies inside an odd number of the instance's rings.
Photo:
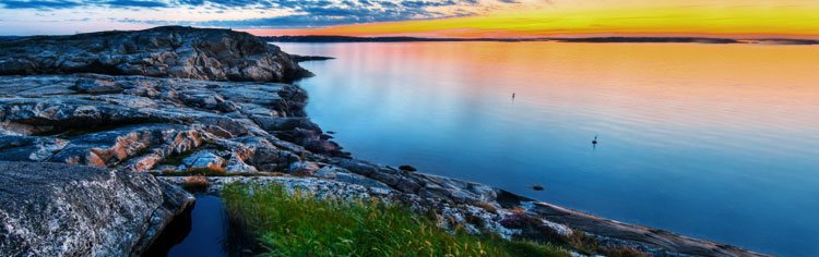
<path id="1" fill-rule="evenodd" d="M 207 81 L 292 82 L 311 74 L 241 32 L 181 26 L 0 41 L 0 75 L 98 73 Z M 92 94 L 115 85 L 78 85 Z"/>

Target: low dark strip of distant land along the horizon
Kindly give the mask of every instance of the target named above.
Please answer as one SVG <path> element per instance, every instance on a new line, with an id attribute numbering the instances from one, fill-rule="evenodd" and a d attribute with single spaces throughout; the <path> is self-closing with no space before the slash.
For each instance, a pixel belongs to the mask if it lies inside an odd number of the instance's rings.
<path id="1" fill-rule="evenodd" d="M 411 42 L 411 41 L 557 41 L 557 42 L 698 42 L 698 44 L 761 44 L 817 45 L 814 39 L 764 38 L 732 39 L 710 37 L 584 37 L 584 38 L 428 38 L 428 37 L 351 37 L 351 36 L 266 36 L 270 42 Z"/>

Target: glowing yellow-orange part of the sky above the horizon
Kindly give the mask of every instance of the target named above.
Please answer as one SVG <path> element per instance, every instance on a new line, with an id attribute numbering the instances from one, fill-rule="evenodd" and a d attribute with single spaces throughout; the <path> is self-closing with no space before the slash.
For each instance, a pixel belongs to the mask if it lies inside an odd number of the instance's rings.
<path id="1" fill-rule="evenodd" d="M 819 38 L 819 0 L 554 0 L 454 19 L 257 29 L 259 35 L 427 37 L 732 36 Z"/>

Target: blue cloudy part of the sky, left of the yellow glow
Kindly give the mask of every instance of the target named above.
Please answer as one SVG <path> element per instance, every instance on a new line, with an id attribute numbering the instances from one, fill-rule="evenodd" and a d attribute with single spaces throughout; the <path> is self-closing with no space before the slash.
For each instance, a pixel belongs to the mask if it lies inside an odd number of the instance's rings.
<path id="1" fill-rule="evenodd" d="M 465 16 L 517 0 L 0 0 L 0 35 L 156 25 L 307 28 Z"/>

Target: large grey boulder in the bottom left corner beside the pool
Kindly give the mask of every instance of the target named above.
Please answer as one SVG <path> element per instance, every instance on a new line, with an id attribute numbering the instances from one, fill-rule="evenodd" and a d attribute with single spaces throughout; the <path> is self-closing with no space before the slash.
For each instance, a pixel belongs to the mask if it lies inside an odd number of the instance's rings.
<path id="1" fill-rule="evenodd" d="M 151 175 L 0 161 L 3 256 L 138 256 L 193 196 Z"/>

